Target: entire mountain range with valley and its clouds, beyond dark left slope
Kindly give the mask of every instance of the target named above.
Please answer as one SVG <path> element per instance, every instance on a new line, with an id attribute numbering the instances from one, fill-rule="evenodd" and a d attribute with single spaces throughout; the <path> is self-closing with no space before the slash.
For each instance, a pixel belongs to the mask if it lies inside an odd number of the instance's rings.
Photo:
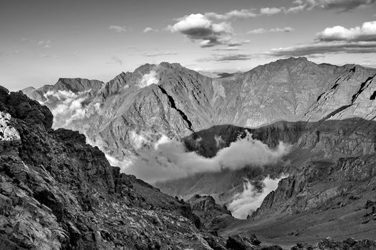
<path id="1" fill-rule="evenodd" d="M 51 109 L 56 131 L 77 130 L 116 159 L 111 164 L 126 163 L 119 171 L 143 178 L 127 171 L 148 165 L 158 174 L 160 164 L 168 178 L 146 181 L 187 202 L 196 221 L 230 245 L 257 234 L 309 249 L 326 236 L 375 240 L 375 76 L 376 69 L 305 58 L 220 78 L 161 63 L 107 83 L 59 79 L 22 92 Z"/>

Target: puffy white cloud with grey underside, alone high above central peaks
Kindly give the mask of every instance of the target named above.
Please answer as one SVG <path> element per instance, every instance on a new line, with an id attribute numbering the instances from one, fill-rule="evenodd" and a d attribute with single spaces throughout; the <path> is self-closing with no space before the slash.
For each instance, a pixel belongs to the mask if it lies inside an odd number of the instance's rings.
<path id="1" fill-rule="evenodd" d="M 240 13 L 236 12 L 237 15 Z M 235 15 L 235 14 L 233 14 Z M 202 48 L 218 45 L 240 46 L 249 41 L 237 41 L 233 39 L 233 27 L 227 21 L 213 21 L 214 14 L 190 14 L 178 19 L 178 22 L 169 25 L 167 29 L 171 32 L 180 32 L 188 37 L 190 41 L 199 44 Z M 217 16 L 215 19 L 220 19 Z"/>

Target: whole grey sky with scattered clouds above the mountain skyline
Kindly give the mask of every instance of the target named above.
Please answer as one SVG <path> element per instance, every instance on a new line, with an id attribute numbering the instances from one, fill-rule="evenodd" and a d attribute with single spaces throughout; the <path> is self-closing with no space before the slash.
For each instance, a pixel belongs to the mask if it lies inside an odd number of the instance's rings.
<path id="1" fill-rule="evenodd" d="M 248 71 L 290 56 L 376 67 L 376 0 L 0 0 L 0 85 L 142 64 Z"/>

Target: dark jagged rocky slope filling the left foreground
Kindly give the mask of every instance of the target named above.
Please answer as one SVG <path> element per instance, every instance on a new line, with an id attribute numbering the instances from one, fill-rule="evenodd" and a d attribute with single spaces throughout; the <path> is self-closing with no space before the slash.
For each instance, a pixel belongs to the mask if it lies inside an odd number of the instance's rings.
<path id="1" fill-rule="evenodd" d="M 188 204 L 121 174 L 77 131 L 51 129 L 45 106 L 0 94 L 1 124 L 19 134 L 12 148 L 0 147 L 1 249 L 208 249 L 205 239 L 222 242 L 200 231 Z"/>

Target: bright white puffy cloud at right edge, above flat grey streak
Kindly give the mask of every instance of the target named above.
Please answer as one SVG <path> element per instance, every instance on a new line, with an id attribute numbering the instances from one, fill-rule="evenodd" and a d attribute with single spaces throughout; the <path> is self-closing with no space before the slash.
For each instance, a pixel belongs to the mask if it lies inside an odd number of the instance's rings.
<path id="1" fill-rule="evenodd" d="M 367 21 L 362 26 L 346 29 L 333 26 L 317 34 L 320 41 L 376 41 L 376 21 Z"/>

